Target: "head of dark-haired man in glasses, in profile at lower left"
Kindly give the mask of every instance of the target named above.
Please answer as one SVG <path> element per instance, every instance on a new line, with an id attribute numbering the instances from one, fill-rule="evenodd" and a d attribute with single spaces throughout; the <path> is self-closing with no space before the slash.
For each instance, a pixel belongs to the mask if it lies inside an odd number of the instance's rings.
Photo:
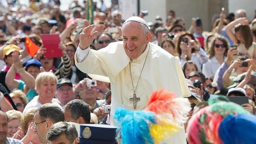
<path id="1" fill-rule="evenodd" d="M 64 113 L 58 106 L 51 103 L 43 104 L 35 112 L 33 124 L 34 132 L 37 133 L 39 141 L 48 143 L 46 139 L 47 131 L 53 124 L 64 120 Z"/>

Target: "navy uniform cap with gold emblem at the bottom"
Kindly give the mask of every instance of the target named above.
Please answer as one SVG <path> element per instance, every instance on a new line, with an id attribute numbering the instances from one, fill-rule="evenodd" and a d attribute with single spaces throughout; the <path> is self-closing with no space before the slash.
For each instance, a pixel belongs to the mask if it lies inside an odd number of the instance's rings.
<path id="1" fill-rule="evenodd" d="M 115 144 L 115 126 L 99 124 L 80 125 L 79 143 L 83 144 Z"/>

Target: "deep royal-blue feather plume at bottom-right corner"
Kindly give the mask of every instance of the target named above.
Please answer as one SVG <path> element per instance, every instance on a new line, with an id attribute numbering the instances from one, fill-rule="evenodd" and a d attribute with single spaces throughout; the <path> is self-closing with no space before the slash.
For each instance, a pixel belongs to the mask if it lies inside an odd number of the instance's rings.
<path id="1" fill-rule="evenodd" d="M 256 144 L 256 116 L 229 115 L 219 126 L 219 137 L 225 144 Z"/>

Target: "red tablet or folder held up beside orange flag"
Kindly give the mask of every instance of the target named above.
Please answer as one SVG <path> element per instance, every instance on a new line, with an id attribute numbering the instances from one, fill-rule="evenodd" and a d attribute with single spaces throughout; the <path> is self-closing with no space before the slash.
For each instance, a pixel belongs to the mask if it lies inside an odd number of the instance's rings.
<path id="1" fill-rule="evenodd" d="M 41 38 L 43 47 L 46 48 L 45 58 L 58 58 L 62 56 L 62 51 L 59 49 L 59 34 L 41 34 Z"/>

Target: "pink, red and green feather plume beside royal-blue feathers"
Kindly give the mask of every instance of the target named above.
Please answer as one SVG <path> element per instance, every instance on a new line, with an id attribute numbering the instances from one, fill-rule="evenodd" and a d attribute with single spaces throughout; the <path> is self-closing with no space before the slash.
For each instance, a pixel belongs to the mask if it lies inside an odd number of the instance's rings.
<path id="1" fill-rule="evenodd" d="M 250 113 L 238 104 L 224 101 L 213 103 L 198 111 L 188 121 L 189 144 L 222 144 L 219 126 L 225 117 L 233 114 Z"/>

